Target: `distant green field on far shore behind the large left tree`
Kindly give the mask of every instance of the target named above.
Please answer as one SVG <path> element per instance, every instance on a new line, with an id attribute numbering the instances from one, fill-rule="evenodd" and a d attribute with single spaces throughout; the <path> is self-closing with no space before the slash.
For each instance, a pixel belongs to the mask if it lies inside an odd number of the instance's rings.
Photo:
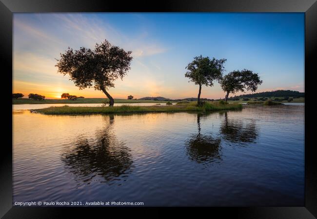
<path id="1" fill-rule="evenodd" d="M 32 100 L 28 98 L 13 99 L 12 104 L 89 104 L 89 103 L 102 103 L 108 98 L 79 98 L 77 100 L 65 99 L 45 99 L 45 100 Z M 115 99 L 115 103 L 166 103 L 167 101 L 154 101 L 154 100 L 127 100 Z"/>

